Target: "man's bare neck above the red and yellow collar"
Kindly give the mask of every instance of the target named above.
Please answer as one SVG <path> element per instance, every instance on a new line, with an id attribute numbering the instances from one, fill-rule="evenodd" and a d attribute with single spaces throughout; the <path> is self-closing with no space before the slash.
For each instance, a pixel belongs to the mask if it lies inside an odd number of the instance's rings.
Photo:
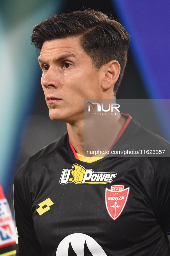
<path id="1" fill-rule="evenodd" d="M 116 116 L 114 116 L 114 118 L 110 118 L 110 116 L 108 116 L 108 118 L 106 118 L 106 116 L 103 117 L 104 120 L 103 122 L 101 122 L 100 119 L 99 125 L 97 119 L 92 119 L 92 121 L 90 119 L 88 120 L 89 122 L 85 120 L 85 126 L 84 120 L 81 120 L 74 125 L 67 123 L 70 142 L 74 147 L 76 153 L 91 157 L 95 154 L 84 154 L 84 150 L 85 152 L 95 150 L 107 151 L 114 144 L 123 125 L 126 122 L 126 119 L 121 116 L 119 112 L 116 114 Z M 99 129 L 96 130 L 96 127 L 98 127 Z"/>

